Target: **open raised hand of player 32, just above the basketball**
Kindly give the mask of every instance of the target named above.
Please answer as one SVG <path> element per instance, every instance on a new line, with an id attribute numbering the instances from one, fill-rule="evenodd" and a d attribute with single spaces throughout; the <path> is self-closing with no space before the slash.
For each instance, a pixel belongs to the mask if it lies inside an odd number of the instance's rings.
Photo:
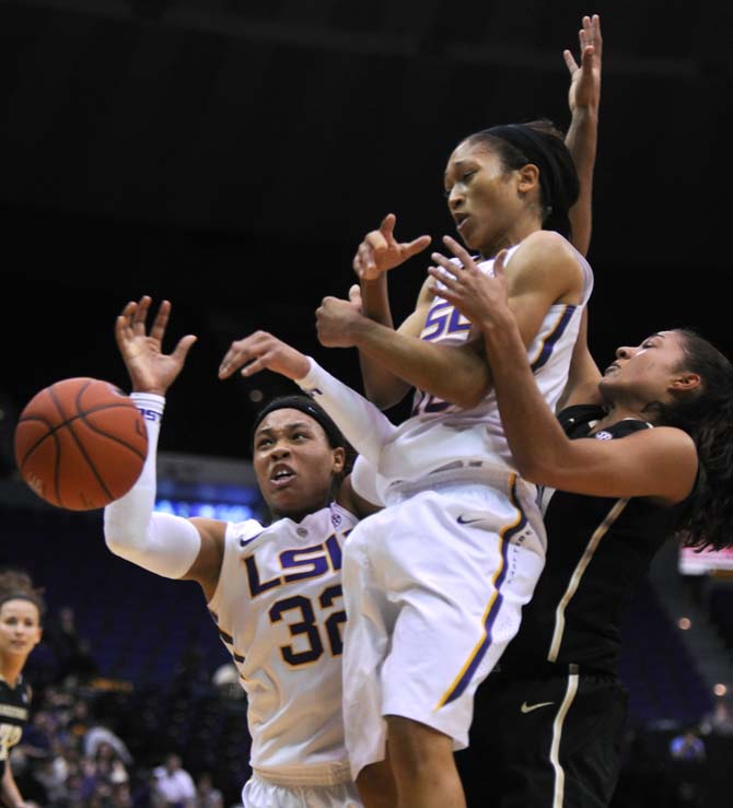
<path id="1" fill-rule="evenodd" d="M 164 396 L 183 370 L 196 337 L 189 333 L 178 340 L 172 353 L 163 353 L 163 339 L 171 316 L 171 303 L 163 301 L 148 331 L 146 320 L 152 298 L 143 295 L 130 301 L 115 323 L 115 339 L 137 393 Z"/>

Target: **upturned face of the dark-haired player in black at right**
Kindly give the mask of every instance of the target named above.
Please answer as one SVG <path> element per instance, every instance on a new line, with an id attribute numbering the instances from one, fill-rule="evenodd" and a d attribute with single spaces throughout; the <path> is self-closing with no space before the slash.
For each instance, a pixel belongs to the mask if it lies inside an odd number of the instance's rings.
<path id="1" fill-rule="evenodd" d="M 636 406 L 666 400 L 671 387 L 684 375 L 683 340 L 678 331 L 660 331 L 639 346 L 617 348 L 616 359 L 600 383 L 603 397 Z"/>

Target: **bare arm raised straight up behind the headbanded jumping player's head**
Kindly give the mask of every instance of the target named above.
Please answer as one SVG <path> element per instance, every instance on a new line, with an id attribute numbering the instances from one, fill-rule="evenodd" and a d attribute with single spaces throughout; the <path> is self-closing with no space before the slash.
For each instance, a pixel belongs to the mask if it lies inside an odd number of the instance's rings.
<path id="1" fill-rule="evenodd" d="M 580 65 L 570 50 L 562 54 L 570 72 L 568 105 L 572 115 L 565 142 L 572 154 L 580 180 L 578 201 L 570 209 L 572 243 L 580 253 L 587 255 L 591 245 L 593 169 L 601 105 L 601 17 L 597 14 L 584 16 L 578 37 Z"/>

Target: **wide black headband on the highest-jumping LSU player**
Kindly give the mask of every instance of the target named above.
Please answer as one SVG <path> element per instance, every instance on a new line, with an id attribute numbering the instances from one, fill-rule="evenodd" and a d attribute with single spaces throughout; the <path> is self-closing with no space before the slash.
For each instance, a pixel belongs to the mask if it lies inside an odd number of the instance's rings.
<path id="1" fill-rule="evenodd" d="M 569 187 L 568 172 L 563 169 L 557 155 L 548 149 L 547 136 L 543 136 L 524 124 L 495 126 L 487 129 L 486 133 L 513 145 L 527 163 L 534 163 L 539 168 L 542 198 L 549 209 L 544 226 L 548 230 L 556 230 L 569 238 L 568 211 L 578 199 L 578 178 L 575 177 L 575 183 Z"/>

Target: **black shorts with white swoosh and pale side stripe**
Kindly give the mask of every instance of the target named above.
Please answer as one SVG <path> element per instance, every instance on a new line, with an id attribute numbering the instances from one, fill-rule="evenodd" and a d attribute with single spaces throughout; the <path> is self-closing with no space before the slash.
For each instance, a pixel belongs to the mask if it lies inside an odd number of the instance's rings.
<path id="1" fill-rule="evenodd" d="M 456 753 L 468 808 L 606 808 L 621 762 L 627 692 L 615 677 L 490 675 L 469 747 Z"/>

